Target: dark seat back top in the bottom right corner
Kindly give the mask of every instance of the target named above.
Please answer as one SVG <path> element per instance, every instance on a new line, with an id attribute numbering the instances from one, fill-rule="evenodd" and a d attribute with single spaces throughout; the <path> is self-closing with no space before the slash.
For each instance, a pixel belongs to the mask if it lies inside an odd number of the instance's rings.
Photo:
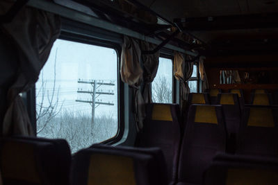
<path id="1" fill-rule="evenodd" d="M 220 155 L 204 173 L 203 184 L 277 184 L 277 159 Z"/>

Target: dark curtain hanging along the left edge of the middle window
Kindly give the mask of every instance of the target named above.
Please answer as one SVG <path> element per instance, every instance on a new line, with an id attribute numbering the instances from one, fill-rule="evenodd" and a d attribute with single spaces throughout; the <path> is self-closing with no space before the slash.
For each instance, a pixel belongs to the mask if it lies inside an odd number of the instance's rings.
<path id="1" fill-rule="evenodd" d="M 155 44 L 141 42 L 142 51 L 152 51 L 156 48 Z M 151 83 L 156 77 L 158 64 L 159 64 L 159 51 L 152 55 L 142 55 L 142 64 L 144 66 L 144 85 L 143 85 L 143 98 L 145 103 L 152 103 L 152 89 Z"/>

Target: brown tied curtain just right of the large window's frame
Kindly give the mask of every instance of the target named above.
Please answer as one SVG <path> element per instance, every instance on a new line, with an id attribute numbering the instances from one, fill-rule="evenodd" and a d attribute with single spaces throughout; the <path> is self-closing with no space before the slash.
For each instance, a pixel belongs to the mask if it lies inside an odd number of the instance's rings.
<path id="1" fill-rule="evenodd" d="M 121 55 L 121 77 L 130 87 L 133 87 L 133 113 L 136 120 L 136 128 L 142 129 L 142 121 L 145 118 L 145 101 L 140 91 L 143 79 L 143 71 L 140 66 L 141 49 L 137 39 L 124 37 Z"/>

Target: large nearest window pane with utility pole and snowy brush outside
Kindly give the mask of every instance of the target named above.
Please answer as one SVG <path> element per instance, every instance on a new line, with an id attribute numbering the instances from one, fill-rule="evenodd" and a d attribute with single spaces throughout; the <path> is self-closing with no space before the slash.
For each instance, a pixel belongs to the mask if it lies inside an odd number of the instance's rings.
<path id="1" fill-rule="evenodd" d="M 76 152 L 117 134 L 114 49 L 58 39 L 35 88 L 38 136 L 66 139 Z"/>

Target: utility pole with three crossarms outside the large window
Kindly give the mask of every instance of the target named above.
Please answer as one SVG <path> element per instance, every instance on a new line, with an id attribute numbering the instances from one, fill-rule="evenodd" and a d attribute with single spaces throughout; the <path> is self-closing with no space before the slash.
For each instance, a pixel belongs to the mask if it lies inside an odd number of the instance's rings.
<path id="1" fill-rule="evenodd" d="M 95 123 L 95 109 L 97 107 L 99 107 L 99 105 L 114 105 L 114 103 L 105 103 L 102 102 L 102 100 L 100 101 L 96 101 L 96 98 L 99 97 L 100 95 L 114 95 L 113 91 L 97 91 L 97 89 L 99 87 L 102 86 L 115 86 L 115 83 L 113 82 L 101 82 L 101 81 L 97 81 L 97 80 L 78 80 L 78 83 L 82 83 L 82 84 L 90 84 L 92 86 L 92 90 L 88 90 L 88 91 L 83 91 L 81 90 L 77 90 L 77 93 L 80 94 L 90 94 L 92 96 L 92 100 L 75 100 L 76 102 L 81 102 L 81 103 L 90 103 L 90 105 L 92 106 L 92 126 Z M 97 106 L 96 106 L 97 105 Z"/>

